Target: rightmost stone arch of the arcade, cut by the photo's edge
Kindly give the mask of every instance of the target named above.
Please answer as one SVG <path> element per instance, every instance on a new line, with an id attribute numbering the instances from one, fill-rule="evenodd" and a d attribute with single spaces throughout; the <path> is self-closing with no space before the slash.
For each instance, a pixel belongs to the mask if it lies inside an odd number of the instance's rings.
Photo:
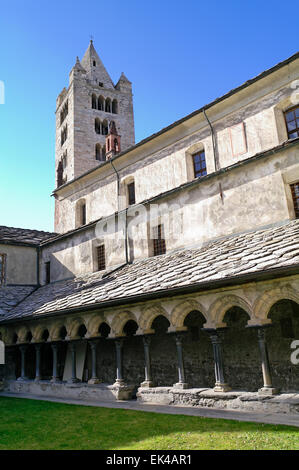
<path id="1" fill-rule="evenodd" d="M 268 314 L 272 305 L 279 300 L 292 300 L 299 304 L 299 293 L 291 286 L 276 287 L 261 294 L 254 303 L 253 314 L 255 323 L 271 323 Z"/>

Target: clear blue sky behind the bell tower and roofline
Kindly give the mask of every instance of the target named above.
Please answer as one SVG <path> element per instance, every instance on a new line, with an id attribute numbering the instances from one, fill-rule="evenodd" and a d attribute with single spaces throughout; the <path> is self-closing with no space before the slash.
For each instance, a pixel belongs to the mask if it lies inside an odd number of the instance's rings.
<path id="1" fill-rule="evenodd" d="M 90 35 L 133 82 L 136 142 L 298 50 L 276 0 L 3 0 L 0 225 L 53 230 L 55 102 Z"/>

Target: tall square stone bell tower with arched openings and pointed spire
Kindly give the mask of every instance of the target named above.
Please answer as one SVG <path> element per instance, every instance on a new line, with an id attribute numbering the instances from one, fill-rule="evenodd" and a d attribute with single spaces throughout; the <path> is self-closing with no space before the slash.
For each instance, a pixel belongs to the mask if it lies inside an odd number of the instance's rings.
<path id="1" fill-rule="evenodd" d="M 111 122 L 122 150 L 135 143 L 132 84 L 122 73 L 114 85 L 93 42 L 70 72 L 56 102 L 56 186 L 106 160 Z"/>

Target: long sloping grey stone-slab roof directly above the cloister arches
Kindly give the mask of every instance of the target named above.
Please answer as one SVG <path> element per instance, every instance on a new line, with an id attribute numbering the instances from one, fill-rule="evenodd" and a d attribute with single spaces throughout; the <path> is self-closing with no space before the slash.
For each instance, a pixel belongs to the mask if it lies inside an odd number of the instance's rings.
<path id="1" fill-rule="evenodd" d="M 222 238 L 195 249 L 137 260 L 110 272 L 54 282 L 34 291 L 5 320 L 63 313 L 101 303 L 129 303 L 176 288 L 213 286 L 245 274 L 299 267 L 299 219 L 280 226 Z"/>

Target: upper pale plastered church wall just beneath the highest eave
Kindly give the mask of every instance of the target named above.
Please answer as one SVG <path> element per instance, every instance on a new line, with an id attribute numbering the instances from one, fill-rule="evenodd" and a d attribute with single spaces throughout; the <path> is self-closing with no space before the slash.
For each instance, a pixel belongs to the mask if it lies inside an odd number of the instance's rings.
<path id="1" fill-rule="evenodd" d="M 210 174 L 216 169 L 215 161 L 219 168 L 225 168 L 287 140 L 283 111 L 292 105 L 291 85 L 298 78 L 298 64 L 293 63 L 289 67 L 207 111 L 216 136 L 215 152 L 210 127 L 200 113 L 117 158 L 114 164 L 121 181 L 128 177 L 135 179 L 136 202 L 192 180 L 192 154 L 199 150 L 205 150 L 207 172 Z M 80 105 L 78 113 L 81 109 Z M 125 114 L 130 115 L 128 112 Z M 82 119 L 81 116 L 80 123 Z M 84 143 L 86 139 L 81 140 Z M 76 201 L 83 196 L 87 197 L 88 221 L 98 219 L 115 207 L 117 191 L 116 185 L 112 188 L 111 179 L 115 181 L 116 177 L 110 170 L 108 178 L 107 169 L 103 167 L 59 193 L 60 232 L 74 228 L 71 213 L 75 210 Z M 106 197 L 107 191 L 109 198 Z M 250 191 L 254 192 L 254 189 L 246 189 L 247 193 Z"/>

